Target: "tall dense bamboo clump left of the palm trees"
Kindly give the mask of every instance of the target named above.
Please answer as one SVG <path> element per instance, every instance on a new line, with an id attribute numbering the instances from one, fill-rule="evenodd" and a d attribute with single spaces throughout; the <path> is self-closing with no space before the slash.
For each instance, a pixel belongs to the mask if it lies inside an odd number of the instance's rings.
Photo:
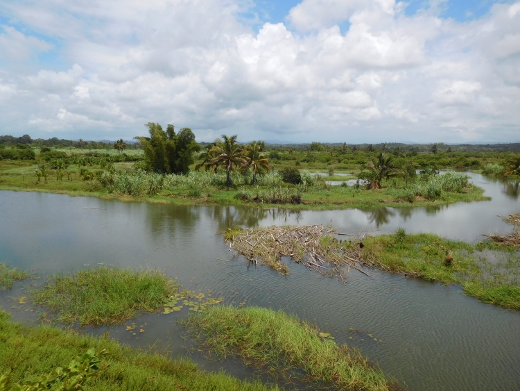
<path id="1" fill-rule="evenodd" d="M 190 128 L 182 128 L 175 135 L 173 125 L 167 131 L 162 126 L 148 122 L 149 138 L 137 137 L 144 149 L 146 168 L 153 172 L 186 174 L 193 164 L 193 153 L 200 149 Z"/>

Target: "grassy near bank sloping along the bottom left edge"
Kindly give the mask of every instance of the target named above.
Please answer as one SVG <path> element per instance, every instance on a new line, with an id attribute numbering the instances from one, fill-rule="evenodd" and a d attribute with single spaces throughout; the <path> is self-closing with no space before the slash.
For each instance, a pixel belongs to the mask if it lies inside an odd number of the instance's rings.
<path id="1" fill-rule="evenodd" d="M 10 372 L 13 381 L 35 381 L 71 358 L 94 347 L 107 349 L 98 376 L 85 391 L 264 391 L 258 381 L 240 381 L 223 372 L 198 369 L 190 360 L 171 360 L 164 353 L 144 353 L 107 338 L 94 338 L 52 326 L 26 326 L 12 322 L 0 309 L 0 374 Z"/>

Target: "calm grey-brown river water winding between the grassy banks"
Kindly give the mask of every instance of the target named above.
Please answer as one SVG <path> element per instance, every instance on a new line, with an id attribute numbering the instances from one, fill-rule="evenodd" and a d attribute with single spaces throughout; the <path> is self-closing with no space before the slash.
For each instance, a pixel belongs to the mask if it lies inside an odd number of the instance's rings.
<path id="1" fill-rule="evenodd" d="M 460 240 L 508 233 L 497 215 L 520 211 L 518 186 L 473 175 L 492 201 L 438 208 L 379 208 L 291 212 L 223 206 L 121 203 L 35 192 L 0 192 L 0 262 L 35 269 L 40 276 L 98 264 L 157 267 L 186 288 L 211 290 L 226 303 L 283 309 L 360 348 L 409 390 L 518 390 L 520 313 L 480 303 L 457 286 L 417 281 L 381 272 L 372 278 L 351 271 L 347 285 L 291 263 L 281 276 L 267 267 L 232 258 L 218 231 L 227 226 L 327 224 L 343 231 L 433 232 Z M 516 186 L 516 188 L 515 188 Z M 218 260 L 223 258 L 229 260 Z M 90 265 L 90 266 L 84 266 Z M 3 292 L 0 305 L 16 319 L 35 317 Z M 179 335 L 176 319 L 187 310 L 135 320 L 144 333 L 110 328 L 112 338 L 134 346 L 190 354 L 203 367 L 225 367 L 247 377 L 234 363 L 209 363 Z M 128 324 L 130 324 L 129 322 Z M 356 331 L 351 331 L 354 328 Z M 90 330 L 103 333 L 105 328 Z M 372 335 L 372 337 L 370 335 Z M 352 337 L 352 340 L 349 339 Z M 374 341 L 376 338 L 377 341 Z M 382 341 L 382 342 L 381 342 Z"/>

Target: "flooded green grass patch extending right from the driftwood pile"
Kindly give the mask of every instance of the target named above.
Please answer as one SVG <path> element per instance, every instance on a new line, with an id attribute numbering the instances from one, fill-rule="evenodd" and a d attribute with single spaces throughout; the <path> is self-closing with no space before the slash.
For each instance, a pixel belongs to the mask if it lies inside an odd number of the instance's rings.
<path id="1" fill-rule="evenodd" d="M 431 233 L 391 235 L 363 240 L 362 256 L 376 267 L 394 273 L 459 284 L 471 296 L 520 310 L 520 254 L 491 242 L 468 244 Z M 447 265 L 447 256 L 452 256 Z"/>

